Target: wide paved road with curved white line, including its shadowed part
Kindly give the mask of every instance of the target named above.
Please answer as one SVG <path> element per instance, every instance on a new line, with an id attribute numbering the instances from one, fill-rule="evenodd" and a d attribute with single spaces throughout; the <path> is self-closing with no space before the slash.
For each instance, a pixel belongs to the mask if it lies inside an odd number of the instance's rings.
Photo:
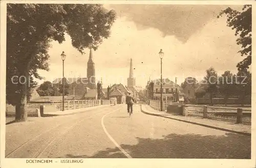
<path id="1" fill-rule="evenodd" d="M 246 159 L 251 150 L 250 136 L 145 115 L 139 105 L 131 118 L 117 105 L 6 129 L 6 155 L 18 158 Z"/>

